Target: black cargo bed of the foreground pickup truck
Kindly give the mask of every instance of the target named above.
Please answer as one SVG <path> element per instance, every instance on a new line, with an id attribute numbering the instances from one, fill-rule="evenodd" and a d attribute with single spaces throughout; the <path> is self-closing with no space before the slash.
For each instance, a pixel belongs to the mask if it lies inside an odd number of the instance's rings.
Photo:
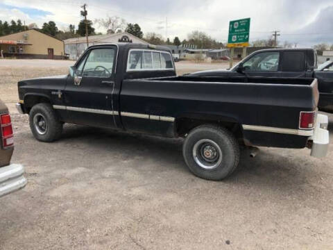
<path id="1" fill-rule="evenodd" d="M 317 81 L 309 78 L 248 80 L 248 83 L 237 83 L 234 78 L 190 76 L 124 80 L 121 114 L 160 115 L 176 119 L 174 123 L 163 123 L 163 127 L 159 126 L 160 131 L 156 131 L 169 137 L 183 135 L 183 127 L 179 126 L 182 119 L 220 120 L 239 124 L 248 145 L 305 147 L 311 132 L 295 128 L 298 128 L 301 110 L 316 109 Z M 133 117 L 122 116 L 121 119 L 126 130 L 151 131 L 139 118 L 133 120 Z M 140 122 L 142 126 L 138 126 Z M 255 130 L 259 126 L 265 130 L 264 136 L 262 131 Z"/>

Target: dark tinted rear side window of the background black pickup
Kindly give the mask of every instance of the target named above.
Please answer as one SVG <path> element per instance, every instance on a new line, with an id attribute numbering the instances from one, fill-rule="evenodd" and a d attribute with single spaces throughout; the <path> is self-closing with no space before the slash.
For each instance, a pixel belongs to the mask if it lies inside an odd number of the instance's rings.
<path id="1" fill-rule="evenodd" d="M 305 53 L 302 51 L 284 51 L 282 71 L 284 72 L 305 71 Z"/>

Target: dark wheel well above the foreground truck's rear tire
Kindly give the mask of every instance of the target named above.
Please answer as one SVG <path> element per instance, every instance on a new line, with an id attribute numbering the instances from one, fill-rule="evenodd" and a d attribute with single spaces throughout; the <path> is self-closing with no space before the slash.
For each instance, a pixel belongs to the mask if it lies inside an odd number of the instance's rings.
<path id="1" fill-rule="evenodd" d="M 210 120 L 210 119 L 194 119 L 194 118 L 179 118 L 176 119 L 176 134 L 180 137 L 185 137 L 189 131 L 197 126 L 204 124 L 214 124 L 227 128 L 232 132 L 236 138 L 243 138 L 241 126 L 237 122 L 223 121 L 223 120 Z"/>

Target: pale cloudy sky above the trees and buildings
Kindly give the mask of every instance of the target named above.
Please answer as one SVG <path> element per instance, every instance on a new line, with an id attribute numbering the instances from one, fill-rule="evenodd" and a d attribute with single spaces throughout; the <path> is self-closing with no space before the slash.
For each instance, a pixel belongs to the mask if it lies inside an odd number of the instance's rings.
<path id="1" fill-rule="evenodd" d="M 139 24 L 144 33 L 160 33 L 171 40 L 186 39 L 198 30 L 226 42 L 229 22 L 250 17 L 250 41 L 268 39 L 272 31 L 280 31 L 281 44 L 333 44 L 333 0 L 0 0 L 0 19 L 21 19 L 39 27 L 51 20 L 65 29 L 78 25 L 83 3 L 92 21 L 118 16 Z M 98 24 L 94 28 L 105 33 Z"/>

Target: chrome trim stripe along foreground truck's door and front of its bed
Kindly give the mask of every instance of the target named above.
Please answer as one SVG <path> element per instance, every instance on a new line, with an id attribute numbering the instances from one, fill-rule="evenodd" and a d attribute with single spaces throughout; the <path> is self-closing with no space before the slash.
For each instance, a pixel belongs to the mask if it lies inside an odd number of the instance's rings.
<path id="1" fill-rule="evenodd" d="M 119 111 L 112 111 L 112 110 L 99 110 L 94 108 L 78 108 L 78 107 L 70 107 L 70 106 L 60 106 L 60 105 L 53 105 L 54 109 L 58 110 L 72 110 L 78 112 L 85 112 L 85 113 L 94 113 L 94 114 L 102 114 L 102 115 L 119 115 Z M 174 122 L 174 117 L 164 117 L 158 115 L 146 115 L 146 114 L 139 114 L 139 113 L 129 113 L 129 112 L 121 112 L 121 116 L 123 117 L 135 117 L 140 119 L 151 119 L 155 121 L 162 121 L 162 122 Z"/>

